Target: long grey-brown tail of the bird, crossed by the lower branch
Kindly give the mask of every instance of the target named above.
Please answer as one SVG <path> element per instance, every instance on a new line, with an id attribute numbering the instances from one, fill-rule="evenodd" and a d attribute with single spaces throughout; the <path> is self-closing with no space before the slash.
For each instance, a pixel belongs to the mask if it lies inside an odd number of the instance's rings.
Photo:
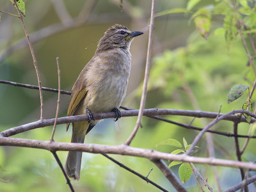
<path id="1" fill-rule="evenodd" d="M 72 143 L 84 143 L 84 137 L 86 135 L 87 129 L 90 127 L 90 124 L 86 122 L 76 122 L 73 123 L 72 129 Z M 81 160 L 82 160 L 81 151 L 69 151 L 67 161 L 65 164 L 65 170 L 68 177 L 73 179 L 80 179 L 80 169 L 81 169 Z"/>

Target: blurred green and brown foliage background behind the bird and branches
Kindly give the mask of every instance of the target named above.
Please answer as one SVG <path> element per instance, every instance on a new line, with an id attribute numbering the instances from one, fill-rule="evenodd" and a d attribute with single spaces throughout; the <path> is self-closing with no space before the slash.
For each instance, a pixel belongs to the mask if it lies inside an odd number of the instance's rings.
<path id="1" fill-rule="evenodd" d="M 29 33 L 60 22 L 51 1 L 42 2 L 40 0 L 26 1 L 25 24 Z M 93 10 L 92 20 L 88 23 L 61 31 L 61 33 L 48 36 L 33 44 L 43 86 L 57 87 L 56 57 L 60 56 L 61 88 L 71 90 L 80 70 L 93 56 L 97 40 L 112 24 L 120 22 L 134 30 L 147 28 L 150 15 L 150 3 L 147 0 L 123 1 L 124 12 L 120 12 L 118 2 L 117 0 L 115 4 L 112 1 L 99 1 Z M 191 110 L 200 108 L 203 111 L 218 112 L 222 104 L 221 113 L 242 108 L 247 99 L 246 94 L 230 104 L 227 104 L 227 94 L 234 84 L 248 84 L 251 88 L 255 76 L 252 68 L 246 65 L 248 56 L 244 51 L 234 20 L 242 19 L 248 31 L 253 33 L 256 29 L 255 6 L 253 7 L 253 1 L 239 1 L 240 4 L 237 3 L 238 1 L 232 1 L 235 2 L 238 12 L 235 14 L 228 2 L 157 1 L 156 16 L 158 17 L 156 17 L 154 33 L 147 108 Z M 12 4 L 7 5 L 7 3 L 9 2 L 0 2 L 0 9 L 16 13 Z M 64 3 L 72 17 L 76 17 L 83 6 L 83 1 L 78 0 L 64 1 Z M 128 5 L 130 7 L 125 11 Z M 184 10 L 186 10 L 185 13 Z M 105 17 L 106 20 L 104 20 Z M 10 23 L 12 27 L 8 27 L 7 23 Z M 244 28 L 241 29 L 249 45 L 250 41 L 246 36 L 246 31 Z M 207 40 L 202 37 L 205 37 L 205 33 L 209 33 Z M 20 21 L 12 20 L 10 15 L 4 14 L 1 14 L 0 34 L 3 34 L 3 36 L 0 35 L 1 51 L 7 49 L 9 44 L 24 37 Z M 4 41 L 10 34 L 12 34 L 10 42 Z M 131 46 L 132 63 L 140 61 L 138 65 L 132 64 L 132 74 L 136 71 L 140 73 L 138 81 L 134 81 L 134 76 L 131 76 L 129 85 L 133 86 L 133 90 L 127 93 L 124 102 L 124 106 L 132 108 L 138 108 L 140 104 L 145 58 L 135 56 L 134 50 L 138 47 L 143 56 L 143 51 L 145 52 L 145 47 L 147 47 L 147 33 L 145 33 L 145 38 L 142 38 L 134 40 Z M 248 46 L 248 50 L 253 52 L 251 46 Z M 253 65 L 254 62 L 253 60 Z M 0 63 L 0 78 L 19 83 L 37 84 L 28 47 L 4 58 Z M 40 106 L 38 98 L 39 94 L 36 90 L 0 84 L 0 131 L 37 120 Z M 67 95 L 61 95 L 60 116 L 65 116 L 67 113 L 68 98 Z M 44 92 L 45 118 L 54 118 L 56 100 L 56 93 Z M 252 104 L 254 108 L 255 97 L 252 98 Z M 164 117 L 184 124 L 189 124 L 193 119 L 184 116 Z M 210 120 L 205 121 L 210 122 Z M 135 122 L 136 117 L 121 118 L 116 123 L 113 120 L 104 120 L 86 136 L 85 142 L 119 145 L 124 143 L 129 136 Z M 166 124 L 147 117 L 143 117 L 142 124 L 143 128 L 138 131 L 136 138 L 132 141 L 132 147 L 156 149 L 157 143 L 170 138 L 180 142 L 186 138 L 188 143 L 191 143 L 198 134 L 197 131 L 182 129 L 177 125 Z M 193 125 L 204 127 L 198 118 L 194 120 Z M 239 124 L 239 134 L 247 134 L 249 127 L 250 125 L 246 123 Z M 232 128 L 231 122 L 224 121 L 212 127 L 217 131 L 227 132 L 232 132 Z M 52 127 L 34 129 L 15 137 L 49 140 L 51 129 Z M 70 131 L 65 132 L 65 125 L 58 125 L 54 140 L 68 142 L 70 135 Z M 212 134 L 212 139 L 216 157 L 236 159 L 234 138 Z M 242 146 L 245 139 L 239 139 L 239 141 Z M 254 161 L 255 144 L 255 140 L 250 140 L 243 159 Z M 205 138 L 198 143 L 198 147 L 200 151 L 196 156 L 207 157 Z M 175 149 L 177 148 L 166 145 L 157 148 L 163 152 L 172 152 Z M 57 154 L 64 164 L 67 152 L 57 152 Z M 168 191 L 174 190 L 170 182 L 148 159 L 116 155 L 111 155 L 111 157 L 145 176 L 151 168 L 154 168 L 148 178 Z M 51 152 L 34 148 L 0 147 L 0 166 L 0 191 L 69 191 Z M 211 168 L 198 164 L 195 166 L 201 173 L 204 173 L 209 185 L 215 191 L 216 182 Z M 179 177 L 178 168 L 179 165 L 176 165 L 171 169 Z M 241 181 L 239 170 L 223 167 L 218 167 L 217 170 L 222 189 L 227 189 Z M 253 174 L 253 172 L 250 173 Z M 72 181 L 72 184 L 76 191 L 159 191 L 100 154 L 83 155 L 81 179 L 79 182 Z M 199 190 L 193 175 L 184 186 L 189 191 Z"/>

